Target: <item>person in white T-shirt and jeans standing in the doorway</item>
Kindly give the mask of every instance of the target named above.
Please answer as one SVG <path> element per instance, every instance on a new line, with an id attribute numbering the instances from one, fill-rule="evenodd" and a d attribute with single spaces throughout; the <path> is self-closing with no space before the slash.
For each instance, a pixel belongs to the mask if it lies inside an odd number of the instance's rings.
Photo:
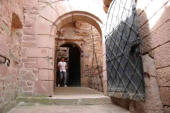
<path id="1" fill-rule="evenodd" d="M 58 63 L 59 67 L 59 84 L 58 87 L 60 87 L 62 80 L 64 79 L 64 87 L 67 87 L 67 63 L 65 62 L 64 58 L 61 58 L 61 61 Z"/>

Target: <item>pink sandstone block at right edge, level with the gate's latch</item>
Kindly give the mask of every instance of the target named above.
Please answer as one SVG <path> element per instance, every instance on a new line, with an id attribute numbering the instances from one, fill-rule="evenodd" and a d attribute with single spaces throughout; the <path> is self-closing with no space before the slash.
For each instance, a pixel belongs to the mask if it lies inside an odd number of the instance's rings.
<path id="1" fill-rule="evenodd" d="M 154 50 L 155 64 L 157 68 L 170 65 L 170 42 Z"/>

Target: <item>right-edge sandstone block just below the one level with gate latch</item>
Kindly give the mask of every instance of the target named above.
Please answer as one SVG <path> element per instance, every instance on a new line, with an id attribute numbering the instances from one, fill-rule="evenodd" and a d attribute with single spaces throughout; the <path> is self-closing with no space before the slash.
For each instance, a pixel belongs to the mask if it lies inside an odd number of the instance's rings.
<path id="1" fill-rule="evenodd" d="M 170 86 L 170 67 L 158 69 L 157 73 L 159 86 Z"/>

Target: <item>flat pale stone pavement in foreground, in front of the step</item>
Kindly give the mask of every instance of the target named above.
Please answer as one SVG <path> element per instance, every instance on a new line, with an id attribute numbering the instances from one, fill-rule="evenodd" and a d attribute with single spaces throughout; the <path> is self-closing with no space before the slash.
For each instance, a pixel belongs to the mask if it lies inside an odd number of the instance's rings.
<path id="1" fill-rule="evenodd" d="M 8 113 L 130 113 L 115 105 L 17 106 Z"/>

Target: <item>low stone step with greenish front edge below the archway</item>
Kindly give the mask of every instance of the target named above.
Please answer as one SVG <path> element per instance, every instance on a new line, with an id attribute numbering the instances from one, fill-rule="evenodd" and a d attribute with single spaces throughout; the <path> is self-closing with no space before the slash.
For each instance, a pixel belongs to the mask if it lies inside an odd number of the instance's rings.
<path id="1" fill-rule="evenodd" d="M 18 97 L 17 102 L 23 105 L 103 105 L 111 104 L 111 99 L 107 96 L 93 97 Z"/>

